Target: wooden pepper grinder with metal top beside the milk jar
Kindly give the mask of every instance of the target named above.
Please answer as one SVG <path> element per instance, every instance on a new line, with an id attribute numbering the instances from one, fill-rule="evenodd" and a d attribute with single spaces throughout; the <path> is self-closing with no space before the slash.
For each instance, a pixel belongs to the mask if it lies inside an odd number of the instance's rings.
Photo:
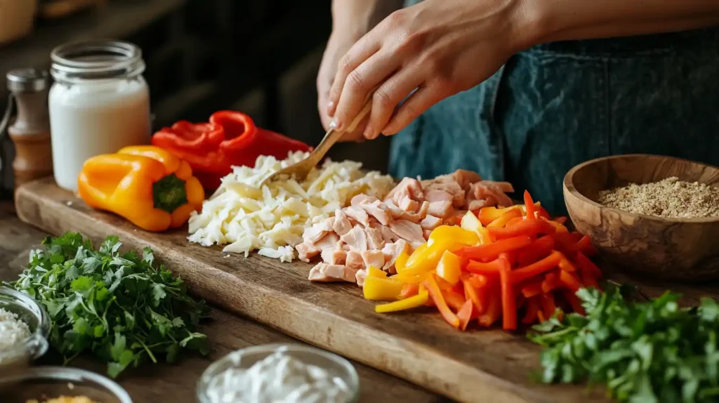
<path id="1" fill-rule="evenodd" d="M 44 70 L 11 70 L 7 73 L 7 88 L 10 97 L 7 111 L 0 122 L 0 134 L 10 123 L 14 98 L 17 116 L 7 132 L 15 144 L 12 167 L 17 190 L 23 183 L 52 175 L 50 115 L 47 110 L 50 78 Z"/>

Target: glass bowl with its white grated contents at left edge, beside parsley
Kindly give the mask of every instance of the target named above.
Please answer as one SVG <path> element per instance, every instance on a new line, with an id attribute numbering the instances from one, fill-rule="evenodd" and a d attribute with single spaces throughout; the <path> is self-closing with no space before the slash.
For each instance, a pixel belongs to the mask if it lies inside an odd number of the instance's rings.
<path id="1" fill-rule="evenodd" d="M 50 318 L 32 297 L 0 287 L 0 369 L 27 365 L 47 351 Z"/>

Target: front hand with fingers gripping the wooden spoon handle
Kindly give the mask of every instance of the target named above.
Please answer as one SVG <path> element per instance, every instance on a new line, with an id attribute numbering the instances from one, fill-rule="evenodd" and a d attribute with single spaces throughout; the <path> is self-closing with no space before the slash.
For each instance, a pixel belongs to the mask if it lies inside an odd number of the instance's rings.
<path id="1" fill-rule="evenodd" d="M 531 12 L 517 4 L 521 2 L 425 0 L 395 11 L 340 60 L 329 93 L 336 108 L 329 108 L 329 114 L 342 129 L 371 95 L 365 137 L 397 133 L 435 103 L 486 80 L 513 53 L 528 47 L 521 22 L 531 20 Z"/>

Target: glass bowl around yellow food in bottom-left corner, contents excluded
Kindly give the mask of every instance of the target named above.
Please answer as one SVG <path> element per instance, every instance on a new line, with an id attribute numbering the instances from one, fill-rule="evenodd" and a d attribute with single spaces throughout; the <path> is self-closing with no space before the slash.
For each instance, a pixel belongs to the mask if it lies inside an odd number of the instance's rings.
<path id="1" fill-rule="evenodd" d="M 105 376 L 67 366 L 37 366 L 0 378 L 3 402 L 42 402 L 60 396 L 89 397 L 93 402 L 132 403 L 129 394 Z"/>

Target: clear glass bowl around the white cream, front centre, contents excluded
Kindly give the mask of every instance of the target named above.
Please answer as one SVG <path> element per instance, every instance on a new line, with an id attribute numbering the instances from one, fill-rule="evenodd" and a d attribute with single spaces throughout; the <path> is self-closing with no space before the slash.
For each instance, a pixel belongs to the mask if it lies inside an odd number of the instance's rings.
<path id="1" fill-rule="evenodd" d="M 208 388 L 212 379 L 230 368 L 235 369 L 249 369 L 257 361 L 271 356 L 283 350 L 283 353 L 294 358 L 298 358 L 303 363 L 310 364 L 313 366 L 319 366 L 319 368 L 328 371 L 330 376 L 336 376 L 342 379 L 349 387 L 349 400 L 343 403 L 354 403 L 359 401 L 359 376 L 352 366 L 346 359 L 334 354 L 329 351 L 324 351 L 319 348 L 313 348 L 309 346 L 301 346 L 299 344 L 266 344 L 264 346 L 252 346 L 242 348 L 226 356 L 219 358 L 219 360 L 212 363 L 203 372 L 199 381 L 197 382 L 197 399 L 200 403 L 211 403 Z"/>

